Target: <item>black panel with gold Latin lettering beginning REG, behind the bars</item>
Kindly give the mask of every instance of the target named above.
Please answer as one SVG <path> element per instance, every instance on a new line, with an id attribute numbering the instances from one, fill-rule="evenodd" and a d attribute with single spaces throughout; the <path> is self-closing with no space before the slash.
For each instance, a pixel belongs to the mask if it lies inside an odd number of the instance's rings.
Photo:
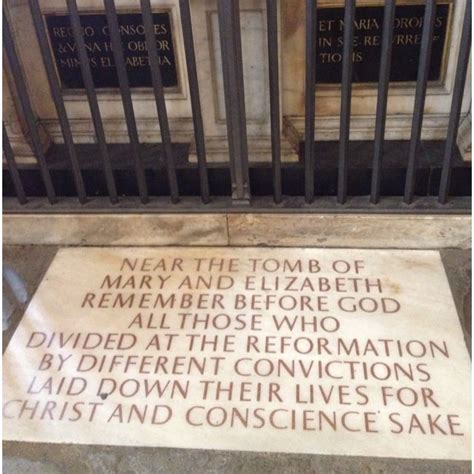
<path id="1" fill-rule="evenodd" d="M 151 87 L 151 72 L 141 14 L 119 14 L 118 22 L 130 87 Z M 168 12 L 154 13 L 153 22 L 163 85 L 176 87 L 178 73 L 170 14 Z M 83 88 L 84 83 L 69 17 L 48 15 L 46 24 L 63 88 Z M 118 87 L 105 14 L 81 15 L 81 24 L 95 87 L 99 89 Z"/>

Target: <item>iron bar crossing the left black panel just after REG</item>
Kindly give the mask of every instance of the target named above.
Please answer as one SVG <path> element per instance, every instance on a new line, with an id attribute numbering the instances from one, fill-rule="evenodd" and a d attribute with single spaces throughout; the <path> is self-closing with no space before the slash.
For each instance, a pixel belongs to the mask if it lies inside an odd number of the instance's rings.
<path id="1" fill-rule="evenodd" d="M 86 46 L 84 43 L 84 37 L 82 36 L 81 20 L 79 17 L 79 11 L 77 9 L 76 0 L 66 0 L 67 8 L 69 11 L 69 20 L 71 22 L 72 34 L 74 36 L 74 42 L 76 44 L 77 56 L 81 66 L 82 79 L 84 81 L 84 87 L 86 89 L 87 100 L 89 102 L 89 108 L 91 111 L 92 122 L 94 124 L 95 134 L 97 137 L 97 143 L 99 145 L 99 151 L 102 156 L 104 164 L 105 179 L 107 181 L 107 189 L 109 192 L 109 198 L 112 203 L 118 201 L 117 189 L 115 186 L 115 179 L 110 162 L 109 152 L 107 150 L 107 142 L 105 139 L 104 125 L 102 123 L 102 117 L 100 115 L 99 103 L 97 101 L 97 94 L 94 88 L 94 81 L 92 79 L 91 68 L 89 64 L 89 57 L 87 56 Z"/>

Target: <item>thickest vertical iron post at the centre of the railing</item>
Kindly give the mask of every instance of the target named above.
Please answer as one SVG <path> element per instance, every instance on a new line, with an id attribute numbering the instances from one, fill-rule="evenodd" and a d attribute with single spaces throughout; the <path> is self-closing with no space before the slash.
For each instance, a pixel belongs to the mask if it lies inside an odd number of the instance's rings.
<path id="1" fill-rule="evenodd" d="M 233 169 L 233 197 L 248 201 L 250 184 L 248 171 L 245 92 L 242 66 L 239 0 L 218 0 L 226 124 L 231 170 Z"/>

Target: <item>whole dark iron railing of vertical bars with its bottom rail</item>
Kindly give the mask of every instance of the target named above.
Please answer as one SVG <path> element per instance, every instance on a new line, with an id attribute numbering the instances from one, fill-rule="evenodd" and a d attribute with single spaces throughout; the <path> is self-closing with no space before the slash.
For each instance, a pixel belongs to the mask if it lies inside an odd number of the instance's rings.
<path id="1" fill-rule="evenodd" d="M 38 0 L 29 0 L 29 6 L 34 20 L 38 44 L 47 73 L 51 96 L 56 108 L 59 124 L 64 139 L 65 151 L 68 154 L 70 170 L 74 178 L 75 191 L 78 203 L 72 203 L 70 197 L 58 195 L 54 180 L 51 176 L 51 168 L 48 164 L 45 152 L 42 149 L 38 123 L 28 96 L 24 71 L 21 67 L 17 47 L 15 45 L 8 14 L 3 12 L 3 41 L 4 52 L 8 59 L 11 74 L 14 79 L 17 94 L 20 100 L 21 111 L 26 121 L 31 146 L 37 160 L 45 195 L 49 201 L 49 209 L 70 209 L 78 211 L 81 209 L 100 209 L 107 207 L 103 197 L 91 196 L 86 192 L 87 182 L 81 170 L 78 159 L 77 144 L 74 143 L 73 134 L 66 113 L 61 85 L 57 77 L 54 60 L 49 47 L 47 32 L 43 22 Z M 459 127 L 461 104 L 464 94 L 464 86 L 469 64 L 471 46 L 471 2 L 466 2 L 464 13 L 461 42 L 455 73 L 452 106 L 449 117 L 447 138 L 444 144 L 444 158 L 442 173 L 437 197 L 416 197 L 415 181 L 419 167 L 419 145 L 423 125 L 423 113 L 428 85 L 428 73 L 430 69 L 431 45 L 433 40 L 434 20 L 436 12 L 436 0 L 427 0 L 424 13 L 422 30 L 422 43 L 418 61 L 418 80 L 415 91 L 415 104 L 413 110 L 411 137 L 409 140 L 409 152 L 403 195 L 399 197 L 383 196 L 381 190 L 382 176 L 384 173 L 384 145 L 385 145 L 385 122 L 387 115 L 387 101 L 389 96 L 389 79 L 392 38 L 395 19 L 395 0 L 386 0 L 384 7 L 383 36 L 381 40 L 381 59 L 378 82 L 378 99 L 376 107 L 375 134 L 373 141 L 373 159 L 370 179 L 370 192 L 367 197 L 348 197 L 348 173 L 351 160 L 349 150 L 349 137 L 351 125 L 351 92 L 352 92 L 352 53 L 354 37 L 355 0 L 346 0 L 344 15 L 344 46 L 342 62 L 342 84 L 341 84 L 341 109 L 340 109 L 340 140 L 338 144 L 338 169 L 337 169 L 337 192 L 334 198 L 330 196 L 315 196 L 315 164 L 318 156 L 315 153 L 315 91 L 316 91 L 316 49 L 317 49 L 317 2 L 306 0 L 306 69 L 305 69 L 305 131 L 303 164 L 304 189 L 300 189 L 298 196 L 288 197 L 284 195 L 282 185 L 282 159 L 281 159 L 281 120 L 280 120 L 280 78 L 279 78 L 279 44 L 278 44 L 278 14 L 277 1 L 267 0 L 267 40 L 269 59 L 269 92 L 270 92 L 270 126 L 271 126 L 271 187 L 272 199 L 269 196 L 261 196 L 261 193 L 252 193 L 251 175 L 254 173 L 249 164 L 249 150 L 247 143 L 247 123 L 245 112 L 245 90 L 242 64 L 242 44 L 239 0 L 217 0 L 217 12 L 219 21 L 220 44 L 222 54 L 222 73 L 225 95 L 225 111 L 227 123 L 227 138 L 229 150 L 229 173 L 230 182 L 229 196 L 222 200 L 212 195 L 210 187 L 210 174 L 213 167 L 206 161 L 205 135 L 202 119 L 202 104 L 199 96 L 199 83 L 196 66 L 195 44 L 193 40 L 191 11 L 189 0 L 180 0 L 180 17 L 183 32 L 184 49 L 186 55 L 187 77 L 189 81 L 190 100 L 192 107 L 194 138 L 197 153 L 197 165 L 192 167 L 192 172 L 197 174 L 200 188 L 201 203 L 186 195 L 186 186 L 180 183 L 178 176 L 176 157 L 174 156 L 164 88 L 158 62 L 158 51 L 156 48 L 153 31 L 152 8 L 150 0 L 140 0 L 141 13 L 145 29 L 145 38 L 148 47 L 149 64 L 151 68 L 152 88 L 156 101 L 156 109 L 162 140 L 162 156 L 164 157 L 168 196 L 154 196 L 150 193 L 150 180 L 153 176 L 147 176 L 143 157 L 141 156 L 140 141 L 137 123 L 134 113 L 134 104 L 125 67 L 124 54 L 119 32 L 119 23 L 114 0 L 104 0 L 104 9 L 113 45 L 113 54 L 117 70 L 119 89 L 123 103 L 124 115 L 129 136 L 129 154 L 133 158 L 134 173 L 136 179 L 136 196 L 120 196 L 117 190 L 117 182 L 113 162 L 110 156 L 109 143 L 107 143 L 103 120 L 99 109 L 98 99 L 89 65 L 88 54 L 81 33 L 81 18 L 76 0 L 67 0 L 70 24 L 77 47 L 77 55 L 80 61 L 80 70 L 90 108 L 90 114 L 94 126 L 97 147 L 102 160 L 103 175 L 105 176 L 108 199 L 111 204 L 117 204 L 118 208 L 142 210 L 183 209 L 193 207 L 195 210 L 222 210 L 248 208 L 256 209 L 273 208 L 290 210 L 292 208 L 316 209 L 322 211 L 344 211 L 344 210 L 397 210 L 399 212 L 410 209 L 418 211 L 465 211 L 470 207 L 470 199 L 450 199 L 450 179 L 455 152 L 456 137 Z M 12 199 L 6 199 L 6 210 L 21 211 L 21 209 L 37 209 L 38 197 L 27 196 L 22 182 L 21 169 L 18 169 L 12 147 L 3 125 L 3 151 L 7 168 L 7 178 L 11 181 L 16 193 L 17 204 Z M 254 173 L 255 174 L 255 173 Z M 186 181 L 186 180 L 184 180 Z M 317 190 L 316 190 L 317 191 Z M 155 193 L 156 194 L 156 193 Z M 165 193 L 166 194 L 166 193 Z M 271 202 L 273 200 L 273 203 Z M 33 202 L 33 204 L 31 204 Z M 185 204 L 183 204 L 183 202 Z M 188 203 L 188 204 L 186 204 Z M 45 209 L 44 206 L 41 207 Z"/>

